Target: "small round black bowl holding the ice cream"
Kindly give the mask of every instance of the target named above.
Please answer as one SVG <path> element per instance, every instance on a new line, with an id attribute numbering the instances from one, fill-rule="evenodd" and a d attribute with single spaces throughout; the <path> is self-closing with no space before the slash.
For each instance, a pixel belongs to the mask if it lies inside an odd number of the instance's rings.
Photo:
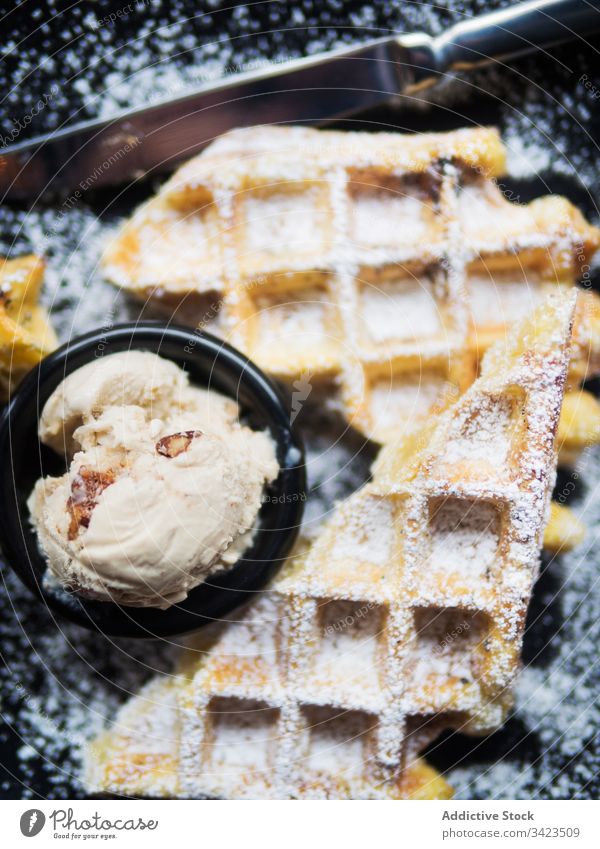
<path id="1" fill-rule="evenodd" d="M 44 586 L 46 564 L 27 509 L 27 498 L 40 475 L 63 474 L 66 469 L 64 458 L 38 439 L 38 420 L 47 399 L 68 374 L 94 357 L 132 348 L 160 354 L 184 368 L 192 383 L 234 398 L 248 425 L 270 431 L 281 467 L 263 501 L 258 530 L 244 558 L 168 610 L 89 601 Z M 284 562 L 296 539 L 304 504 L 302 446 L 277 387 L 221 340 L 154 322 L 88 333 L 46 357 L 22 382 L 2 416 L 0 468 L 0 545 L 6 561 L 52 612 L 111 636 L 172 636 L 223 617 L 264 587 Z"/>

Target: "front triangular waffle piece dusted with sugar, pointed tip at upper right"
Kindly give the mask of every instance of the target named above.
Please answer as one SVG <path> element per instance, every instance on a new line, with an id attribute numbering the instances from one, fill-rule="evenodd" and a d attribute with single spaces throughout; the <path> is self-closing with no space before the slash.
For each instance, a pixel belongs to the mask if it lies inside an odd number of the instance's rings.
<path id="1" fill-rule="evenodd" d="M 422 797 L 447 793 L 420 753 L 511 703 L 574 305 L 557 293 L 494 346 L 269 592 L 124 708 L 91 749 L 91 792 L 407 798 L 421 776 Z"/>

